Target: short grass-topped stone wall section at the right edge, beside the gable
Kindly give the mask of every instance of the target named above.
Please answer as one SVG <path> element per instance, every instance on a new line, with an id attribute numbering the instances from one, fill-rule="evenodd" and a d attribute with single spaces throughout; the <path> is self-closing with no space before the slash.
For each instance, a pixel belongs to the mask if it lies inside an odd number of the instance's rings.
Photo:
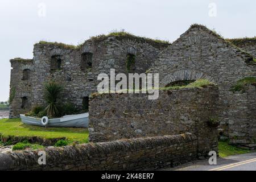
<path id="1" fill-rule="evenodd" d="M 256 148 L 256 87 L 247 85 L 245 92 L 230 93 L 228 109 L 229 141 L 243 147 Z"/>

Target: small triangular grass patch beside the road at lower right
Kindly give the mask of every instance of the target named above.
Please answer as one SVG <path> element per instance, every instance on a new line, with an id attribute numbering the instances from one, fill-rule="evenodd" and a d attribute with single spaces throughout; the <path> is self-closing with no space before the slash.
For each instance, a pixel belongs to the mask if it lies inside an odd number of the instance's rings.
<path id="1" fill-rule="evenodd" d="M 228 142 L 218 142 L 218 154 L 220 155 L 221 158 L 224 158 L 229 155 L 246 154 L 249 152 L 251 151 L 231 146 L 228 144 Z"/>

